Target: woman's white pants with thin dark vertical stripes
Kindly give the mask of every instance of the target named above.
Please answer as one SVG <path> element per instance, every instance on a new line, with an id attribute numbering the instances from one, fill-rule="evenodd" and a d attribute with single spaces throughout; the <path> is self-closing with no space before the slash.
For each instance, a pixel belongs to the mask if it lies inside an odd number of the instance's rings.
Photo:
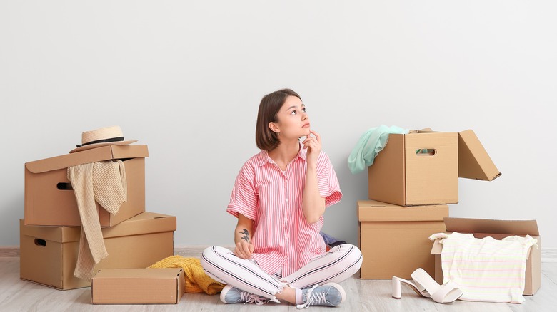
<path id="1" fill-rule="evenodd" d="M 328 282 L 340 283 L 355 274 L 361 266 L 358 247 L 351 244 L 334 246 L 289 276 L 267 274 L 255 261 L 240 259 L 229 249 L 211 246 L 203 251 L 201 266 L 212 279 L 242 291 L 276 299 L 285 286 L 308 288 Z"/>

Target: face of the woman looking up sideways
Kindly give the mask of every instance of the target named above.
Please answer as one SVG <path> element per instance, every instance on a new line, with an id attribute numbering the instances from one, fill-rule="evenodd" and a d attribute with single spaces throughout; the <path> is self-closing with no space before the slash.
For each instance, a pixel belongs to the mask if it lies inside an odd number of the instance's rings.
<path id="1" fill-rule="evenodd" d="M 310 123 L 306 105 L 296 96 L 288 96 L 276 113 L 278 123 L 271 123 L 271 130 L 280 132 L 281 137 L 296 138 L 309 135 Z M 276 127 L 276 128 L 273 128 Z"/>

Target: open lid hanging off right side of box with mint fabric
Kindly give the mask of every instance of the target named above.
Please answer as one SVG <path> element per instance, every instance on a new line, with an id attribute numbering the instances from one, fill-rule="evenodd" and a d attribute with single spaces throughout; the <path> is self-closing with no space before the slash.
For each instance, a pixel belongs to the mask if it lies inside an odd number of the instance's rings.
<path id="1" fill-rule="evenodd" d="M 458 177 L 491 181 L 500 175 L 476 133 L 458 132 Z"/>

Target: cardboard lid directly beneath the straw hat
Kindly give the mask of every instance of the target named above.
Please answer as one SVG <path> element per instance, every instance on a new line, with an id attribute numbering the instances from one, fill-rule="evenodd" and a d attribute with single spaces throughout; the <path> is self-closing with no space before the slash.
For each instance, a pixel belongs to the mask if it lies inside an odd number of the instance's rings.
<path id="1" fill-rule="evenodd" d="M 59 170 L 71 166 L 86 164 L 89 162 L 101 162 L 103 160 L 117 160 L 126 158 L 148 157 L 147 145 L 107 145 L 92 148 L 81 152 L 26 162 L 25 167 L 33 173 Z"/>

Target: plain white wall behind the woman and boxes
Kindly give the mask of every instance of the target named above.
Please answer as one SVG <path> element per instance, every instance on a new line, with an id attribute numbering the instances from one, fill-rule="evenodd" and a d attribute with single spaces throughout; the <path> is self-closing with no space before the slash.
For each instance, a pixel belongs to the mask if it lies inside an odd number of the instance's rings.
<path id="1" fill-rule="evenodd" d="M 557 247 L 555 1 L 1 1 L 0 246 L 19 245 L 24 162 L 120 125 L 149 145 L 146 203 L 175 245 L 232 244 L 234 178 L 261 97 L 301 94 L 343 190 L 325 232 L 357 244 L 377 125 L 471 128 L 503 172 L 461 180 L 453 217 L 537 219 Z"/>

